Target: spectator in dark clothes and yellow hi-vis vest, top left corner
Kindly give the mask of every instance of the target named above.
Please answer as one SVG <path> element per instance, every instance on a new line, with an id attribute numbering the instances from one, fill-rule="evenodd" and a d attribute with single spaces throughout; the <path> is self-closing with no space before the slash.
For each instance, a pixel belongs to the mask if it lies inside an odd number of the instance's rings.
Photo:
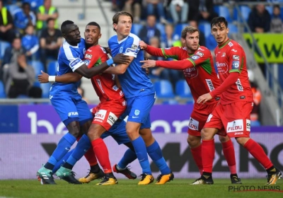
<path id="1" fill-rule="evenodd" d="M 6 7 L 3 0 L 0 0 L 0 39 L 13 42 L 15 33 L 13 31 L 13 17 Z"/>

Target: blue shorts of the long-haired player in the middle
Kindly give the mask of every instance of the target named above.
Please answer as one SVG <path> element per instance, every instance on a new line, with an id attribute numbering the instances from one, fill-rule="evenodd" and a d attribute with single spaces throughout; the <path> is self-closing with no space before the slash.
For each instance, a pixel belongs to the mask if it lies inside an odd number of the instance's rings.
<path id="1" fill-rule="evenodd" d="M 141 123 L 141 129 L 150 128 L 150 110 L 155 102 L 155 93 L 127 98 L 127 121 Z"/>

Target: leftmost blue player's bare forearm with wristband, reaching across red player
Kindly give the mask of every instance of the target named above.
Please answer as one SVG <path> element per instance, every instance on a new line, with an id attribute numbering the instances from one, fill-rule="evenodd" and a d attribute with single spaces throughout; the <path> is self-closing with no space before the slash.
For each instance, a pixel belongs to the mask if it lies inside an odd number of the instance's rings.
<path id="1" fill-rule="evenodd" d="M 117 54 L 112 59 L 108 59 L 107 62 L 103 62 L 103 64 L 100 64 L 98 66 L 93 66 L 90 69 L 88 69 L 88 66 L 86 64 L 83 64 L 78 69 L 76 69 L 76 72 L 81 74 L 81 76 L 84 76 L 86 78 L 91 78 L 93 76 L 96 76 L 98 74 L 101 74 L 105 69 L 108 69 L 109 66 L 112 64 L 129 64 L 131 62 L 131 57 L 124 55 L 124 54 Z"/>

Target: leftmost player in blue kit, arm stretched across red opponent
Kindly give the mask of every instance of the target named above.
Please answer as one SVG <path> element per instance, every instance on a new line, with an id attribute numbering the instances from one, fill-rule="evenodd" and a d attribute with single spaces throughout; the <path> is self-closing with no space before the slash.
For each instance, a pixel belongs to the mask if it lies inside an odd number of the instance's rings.
<path id="1" fill-rule="evenodd" d="M 117 54 L 107 62 L 88 69 L 85 62 L 82 61 L 86 45 L 81 38 L 78 25 L 73 21 L 64 21 L 61 25 L 62 35 L 65 41 L 60 47 L 58 54 L 57 76 L 70 72 L 77 72 L 86 78 L 91 78 L 108 69 L 113 63 L 129 63 L 127 55 Z M 49 76 L 49 81 L 55 81 L 55 76 Z M 53 83 L 50 88 L 50 100 L 54 109 L 59 114 L 62 122 L 68 129 L 68 133 L 60 139 L 57 148 L 52 153 L 47 163 L 37 171 L 37 176 L 41 178 L 45 184 L 56 184 L 52 177 L 52 169 L 54 165 L 69 151 L 70 147 L 76 141 L 81 132 L 88 132 L 91 126 L 93 116 L 89 111 L 88 105 L 79 95 L 76 83 Z M 77 146 L 84 145 L 88 140 L 88 136 L 83 135 Z M 74 177 L 74 173 L 70 170 L 63 175 L 57 175 L 63 180 L 73 184 L 81 184 Z"/>

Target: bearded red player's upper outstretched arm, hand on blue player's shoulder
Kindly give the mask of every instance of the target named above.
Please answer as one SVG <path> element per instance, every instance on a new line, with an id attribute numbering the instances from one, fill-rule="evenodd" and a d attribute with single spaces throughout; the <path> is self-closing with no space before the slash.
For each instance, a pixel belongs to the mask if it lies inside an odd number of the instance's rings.
<path id="1" fill-rule="evenodd" d="M 141 47 L 141 49 L 143 50 L 146 50 L 146 52 L 151 54 L 151 56 L 178 59 L 178 53 L 175 52 L 176 47 L 171 47 L 167 49 L 152 47 L 151 45 L 147 45 L 142 40 L 139 41 L 139 47 Z M 179 47 L 177 48 L 180 49 Z"/>

